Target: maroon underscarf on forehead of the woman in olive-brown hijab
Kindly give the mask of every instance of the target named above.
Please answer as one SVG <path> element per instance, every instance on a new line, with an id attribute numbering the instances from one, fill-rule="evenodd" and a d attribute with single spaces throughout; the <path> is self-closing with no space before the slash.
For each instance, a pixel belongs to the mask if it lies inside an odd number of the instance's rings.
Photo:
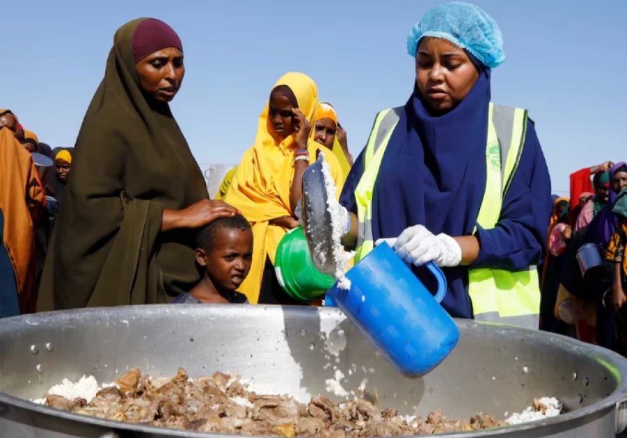
<path id="1" fill-rule="evenodd" d="M 155 51 L 166 47 L 176 47 L 183 51 L 179 35 L 170 26 L 158 19 L 145 19 L 133 34 L 133 58 L 138 63 Z"/>

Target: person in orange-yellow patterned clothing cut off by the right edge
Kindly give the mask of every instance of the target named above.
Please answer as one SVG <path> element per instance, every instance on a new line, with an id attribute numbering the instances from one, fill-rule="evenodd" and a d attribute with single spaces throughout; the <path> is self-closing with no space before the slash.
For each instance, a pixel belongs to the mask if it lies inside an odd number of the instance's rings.
<path id="1" fill-rule="evenodd" d="M 612 288 L 612 303 L 616 311 L 614 321 L 614 350 L 627 356 L 627 189 L 619 193 L 614 206 L 614 215 L 618 219 L 616 232 L 612 235 L 605 259 L 614 263 L 614 286 Z"/>

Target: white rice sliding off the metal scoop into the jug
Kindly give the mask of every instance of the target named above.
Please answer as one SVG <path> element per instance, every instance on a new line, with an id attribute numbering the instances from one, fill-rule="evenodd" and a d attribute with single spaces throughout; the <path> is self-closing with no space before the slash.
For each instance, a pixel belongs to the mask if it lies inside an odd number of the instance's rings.
<path id="1" fill-rule="evenodd" d="M 340 289 L 349 290 L 351 289 L 351 281 L 344 274 L 349 268 L 349 261 L 355 257 L 355 252 L 344 251 L 344 246 L 341 242 L 344 228 L 340 223 L 342 206 L 337 200 L 338 189 L 335 187 L 333 177 L 331 177 L 331 166 L 324 160 L 324 153 L 320 152 L 320 156 L 322 156 L 322 177 L 324 179 L 324 189 L 326 190 L 327 211 L 331 213 L 331 228 L 333 230 L 333 261 L 335 261 L 335 274 L 333 277 L 338 280 Z"/>

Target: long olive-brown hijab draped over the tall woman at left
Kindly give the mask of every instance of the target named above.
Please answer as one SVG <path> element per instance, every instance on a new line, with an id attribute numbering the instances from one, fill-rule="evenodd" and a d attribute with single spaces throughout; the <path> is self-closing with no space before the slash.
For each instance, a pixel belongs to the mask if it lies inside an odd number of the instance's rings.
<path id="1" fill-rule="evenodd" d="M 161 233 L 164 209 L 208 195 L 170 108 L 143 96 L 133 54 L 143 21 L 118 29 L 85 115 L 39 311 L 168 302 L 200 279 L 191 234 Z"/>

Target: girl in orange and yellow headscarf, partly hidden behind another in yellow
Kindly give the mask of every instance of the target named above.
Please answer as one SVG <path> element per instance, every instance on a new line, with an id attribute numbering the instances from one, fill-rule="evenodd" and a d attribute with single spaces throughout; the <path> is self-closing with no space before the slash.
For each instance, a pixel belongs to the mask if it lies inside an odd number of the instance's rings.
<path id="1" fill-rule="evenodd" d="M 349 152 L 346 131 L 338 122 L 338 113 L 335 113 L 335 108 L 326 102 L 320 102 L 318 106 L 314 140 L 333 151 L 342 168 L 343 184 L 353 167 L 353 156 Z"/>

